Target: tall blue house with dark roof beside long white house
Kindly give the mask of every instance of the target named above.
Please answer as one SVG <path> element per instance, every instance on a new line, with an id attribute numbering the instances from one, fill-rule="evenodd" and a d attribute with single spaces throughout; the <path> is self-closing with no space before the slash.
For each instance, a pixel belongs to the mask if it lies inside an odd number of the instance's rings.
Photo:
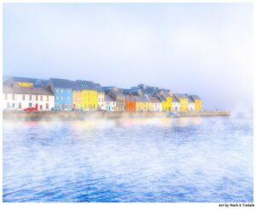
<path id="1" fill-rule="evenodd" d="M 56 110 L 73 109 L 73 89 L 76 83 L 67 79 L 49 78 L 47 85 L 55 94 Z"/>

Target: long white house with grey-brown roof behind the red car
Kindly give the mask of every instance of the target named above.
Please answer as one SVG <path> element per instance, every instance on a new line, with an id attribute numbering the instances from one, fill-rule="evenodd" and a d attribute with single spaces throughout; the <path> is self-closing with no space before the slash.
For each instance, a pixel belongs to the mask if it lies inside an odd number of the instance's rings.
<path id="1" fill-rule="evenodd" d="M 54 104 L 54 94 L 47 88 L 3 86 L 3 110 L 24 110 L 27 107 L 51 110 Z"/>

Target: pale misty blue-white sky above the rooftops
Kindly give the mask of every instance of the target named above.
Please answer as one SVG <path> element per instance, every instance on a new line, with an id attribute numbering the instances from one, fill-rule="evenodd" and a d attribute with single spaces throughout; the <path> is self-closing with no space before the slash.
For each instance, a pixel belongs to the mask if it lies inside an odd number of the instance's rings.
<path id="1" fill-rule="evenodd" d="M 3 75 L 197 94 L 253 108 L 253 3 L 3 3 Z"/>

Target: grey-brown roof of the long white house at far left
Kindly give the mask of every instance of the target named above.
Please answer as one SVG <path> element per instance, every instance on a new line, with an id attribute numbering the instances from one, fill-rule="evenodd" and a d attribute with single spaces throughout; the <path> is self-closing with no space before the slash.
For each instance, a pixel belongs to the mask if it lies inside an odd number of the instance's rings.
<path id="1" fill-rule="evenodd" d="M 54 95 L 54 93 L 52 93 L 48 88 L 26 88 L 26 87 L 10 88 L 7 86 L 3 86 L 3 93 Z"/>

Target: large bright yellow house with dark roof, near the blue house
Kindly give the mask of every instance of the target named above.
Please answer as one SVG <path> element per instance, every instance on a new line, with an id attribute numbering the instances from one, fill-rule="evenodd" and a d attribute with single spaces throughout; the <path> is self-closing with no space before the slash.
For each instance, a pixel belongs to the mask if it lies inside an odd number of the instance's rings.
<path id="1" fill-rule="evenodd" d="M 80 93 L 76 93 L 81 99 L 81 108 L 83 110 L 97 110 L 98 93 L 94 82 L 77 81 Z"/>

